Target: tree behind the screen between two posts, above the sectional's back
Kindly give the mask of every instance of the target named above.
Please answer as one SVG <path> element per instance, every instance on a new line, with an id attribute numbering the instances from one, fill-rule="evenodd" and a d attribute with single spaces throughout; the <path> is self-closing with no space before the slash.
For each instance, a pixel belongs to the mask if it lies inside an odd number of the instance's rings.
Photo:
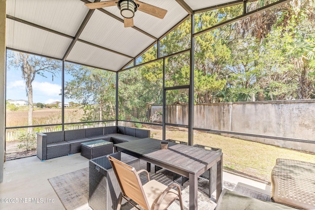
<path id="1" fill-rule="evenodd" d="M 65 82 L 64 97 L 82 104 L 82 121 L 110 120 L 115 116 L 115 73 L 81 65 L 66 72 L 73 79 Z"/>

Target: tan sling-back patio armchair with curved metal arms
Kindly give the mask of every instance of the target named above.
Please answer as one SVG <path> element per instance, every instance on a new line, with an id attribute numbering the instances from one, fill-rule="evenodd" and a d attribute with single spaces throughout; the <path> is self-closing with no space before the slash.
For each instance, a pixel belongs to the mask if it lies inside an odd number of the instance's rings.
<path id="1" fill-rule="evenodd" d="M 133 167 L 123 163 L 112 156 L 107 156 L 122 190 L 119 195 L 117 210 L 120 210 L 123 198 L 138 209 L 129 199 L 137 203 L 145 210 L 166 210 L 176 199 L 179 199 L 181 210 L 183 201 L 181 188 L 178 184 L 172 183 L 166 186 L 157 180 L 150 180 L 146 170 L 136 171 Z M 142 185 L 139 174 L 145 172 L 148 182 Z M 176 186 L 177 191 L 172 189 Z"/>

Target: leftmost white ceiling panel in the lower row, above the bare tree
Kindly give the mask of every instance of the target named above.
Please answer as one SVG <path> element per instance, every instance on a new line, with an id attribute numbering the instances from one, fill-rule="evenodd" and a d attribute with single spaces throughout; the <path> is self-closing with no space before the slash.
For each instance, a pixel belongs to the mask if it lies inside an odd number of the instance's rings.
<path id="1" fill-rule="evenodd" d="M 6 46 L 62 59 L 72 39 L 6 19 Z"/>

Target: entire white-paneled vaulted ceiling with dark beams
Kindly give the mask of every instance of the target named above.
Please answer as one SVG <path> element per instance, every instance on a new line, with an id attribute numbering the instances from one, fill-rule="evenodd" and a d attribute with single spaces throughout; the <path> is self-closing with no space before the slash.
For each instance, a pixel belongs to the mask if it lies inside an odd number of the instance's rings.
<path id="1" fill-rule="evenodd" d="M 95 0 L 95 2 L 98 0 Z M 118 0 L 117 0 L 118 1 Z M 142 0 L 166 9 L 163 19 L 142 11 L 125 28 L 117 6 L 89 9 L 88 0 L 7 0 L 6 47 L 119 71 L 190 14 L 243 0 Z"/>

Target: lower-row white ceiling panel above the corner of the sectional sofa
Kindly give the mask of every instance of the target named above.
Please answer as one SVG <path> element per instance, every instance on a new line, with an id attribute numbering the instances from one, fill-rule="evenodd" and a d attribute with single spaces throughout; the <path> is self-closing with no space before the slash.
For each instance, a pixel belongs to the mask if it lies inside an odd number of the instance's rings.
<path id="1" fill-rule="evenodd" d="M 102 50 L 80 41 L 75 43 L 67 60 L 113 71 L 118 71 L 130 61 L 127 57 Z"/>

